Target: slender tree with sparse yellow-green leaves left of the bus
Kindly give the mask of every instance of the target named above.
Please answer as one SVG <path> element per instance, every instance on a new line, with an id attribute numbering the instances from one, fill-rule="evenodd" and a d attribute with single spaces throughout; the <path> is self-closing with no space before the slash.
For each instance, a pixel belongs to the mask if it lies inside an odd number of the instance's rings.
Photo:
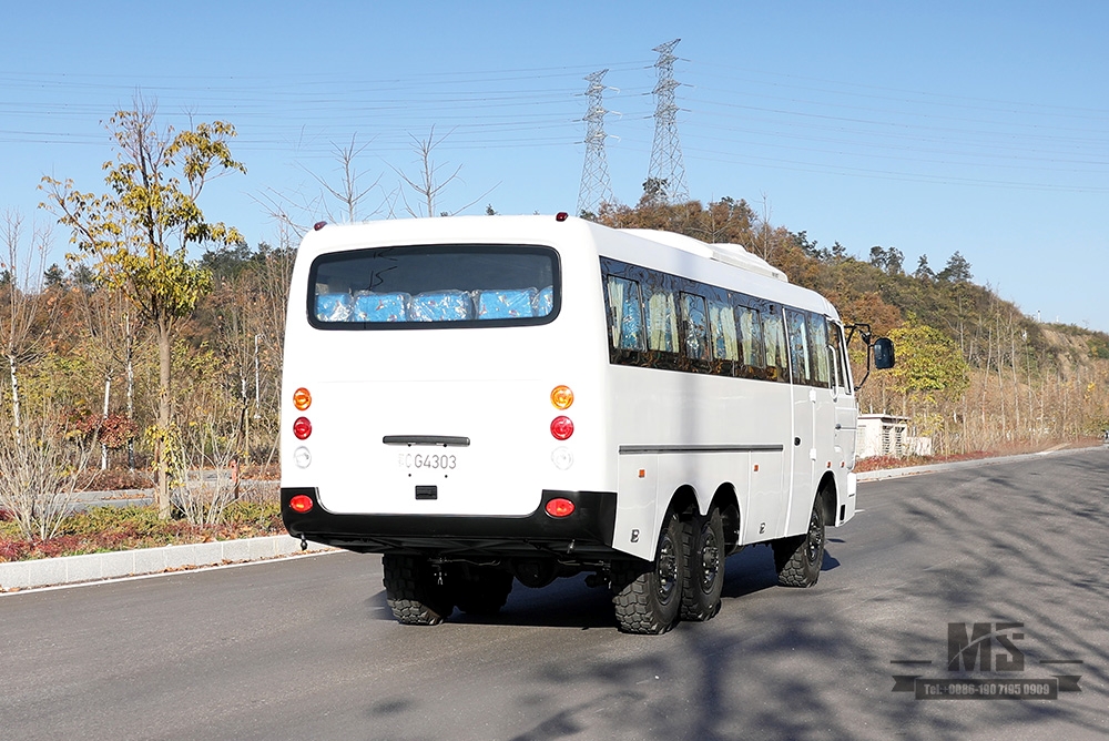
<path id="1" fill-rule="evenodd" d="M 104 163 L 103 195 L 82 193 L 72 181 L 44 177 L 45 207 L 72 230 L 77 258 L 95 261 L 99 281 L 121 291 L 154 328 L 159 349 L 157 422 L 151 430 L 157 470 L 156 501 L 170 515 L 171 349 L 177 323 L 212 287 L 211 274 L 189 260 L 190 244 L 240 244 L 242 235 L 210 223 L 197 205 L 206 182 L 228 171 L 246 172 L 234 160 L 230 123 L 215 121 L 175 132 L 160 128 L 155 106 L 136 99 L 134 110 L 109 120 L 116 156 Z"/>

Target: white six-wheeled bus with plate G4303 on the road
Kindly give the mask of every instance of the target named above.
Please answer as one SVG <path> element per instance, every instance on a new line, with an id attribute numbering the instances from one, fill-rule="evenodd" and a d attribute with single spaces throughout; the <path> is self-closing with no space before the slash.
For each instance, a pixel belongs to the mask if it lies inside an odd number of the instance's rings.
<path id="1" fill-rule="evenodd" d="M 836 309 L 737 245 L 566 214 L 317 224 L 282 512 L 383 554 L 404 623 L 587 572 L 659 633 L 715 615 L 751 544 L 816 582 L 855 512 L 854 390 Z"/>

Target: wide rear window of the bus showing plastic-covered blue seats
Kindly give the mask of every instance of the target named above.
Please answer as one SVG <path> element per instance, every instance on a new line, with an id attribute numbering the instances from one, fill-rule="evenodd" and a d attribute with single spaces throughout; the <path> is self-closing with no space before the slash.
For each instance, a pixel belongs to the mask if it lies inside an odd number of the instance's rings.
<path id="1" fill-rule="evenodd" d="M 546 324 L 559 307 L 550 247 L 429 245 L 321 255 L 308 319 L 324 329 Z"/>

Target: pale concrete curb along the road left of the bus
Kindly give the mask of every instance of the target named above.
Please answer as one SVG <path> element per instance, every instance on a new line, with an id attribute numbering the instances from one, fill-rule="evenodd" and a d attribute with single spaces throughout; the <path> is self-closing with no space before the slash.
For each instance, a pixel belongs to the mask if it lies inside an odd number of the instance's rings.
<path id="1" fill-rule="evenodd" d="M 302 552 L 315 554 L 329 550 L 334 549 L 309 542 L 307 550 L 302 551 L 299 538 L 275 535 L 263 538 L 216 540 L 184 546 L 162 546 L 161 548 L 11 561 L 0 564 L 0 593 L 38 587 L 161 573 L 163 571 L 183 571 L 203 566 L 261 561 Z"/>

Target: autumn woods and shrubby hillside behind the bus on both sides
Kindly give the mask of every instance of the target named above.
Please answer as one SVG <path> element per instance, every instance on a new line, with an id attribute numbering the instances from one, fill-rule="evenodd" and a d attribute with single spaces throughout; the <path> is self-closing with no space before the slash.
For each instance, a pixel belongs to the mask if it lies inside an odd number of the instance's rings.
<path id="1" fill-rule="evenodd" d="M 491 209 L 490 209 L 491 211 Z M 826 295 L 848 323 L 892 337 L 897 366 L 872 373 L 861 410 L 907 417 L 937 455 L 1048 447 L 1109 427 L 1109 335 L 1022 314 L 976 284 L 954 253 L 915 268 L 893 247 L 865 258 L 757 217 L 745 201 L 603 205 L 587 219 L 744 245 L 793 283 Z M 495 217 L 495 216 L 494 216 Z M 92 467 L 147 467 L 159 389 L 153 328 L 84 262 L 34 265 L 34 234 L 11 214 L 0 268 L 0 384 L 6 430 L 61 429 L 84 441 Z M 176 463 L 277 461 L 282 333 L 295 257 L 279 246 L 221 245 L 194 267 L 211 277 L 174 335 L 171 406 Z M 20 267 L 21 272 L 16 268 Z M 37 277 L 30 284 L 17 275 Z M 30 286 L 30 287 L 29 287 Z M 855 377 L 865 355 L 853 343 Z M 8 437 L 6 433 L 6 437 Z"/>

